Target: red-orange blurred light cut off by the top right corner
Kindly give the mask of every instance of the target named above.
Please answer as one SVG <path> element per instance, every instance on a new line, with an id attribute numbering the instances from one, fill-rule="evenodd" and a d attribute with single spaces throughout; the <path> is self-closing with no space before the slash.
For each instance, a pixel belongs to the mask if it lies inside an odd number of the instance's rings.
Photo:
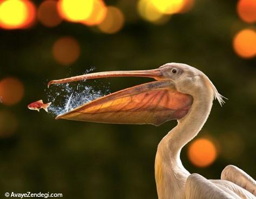
<path id="1" fill-rule="evenodd" d="M 256 22 L 256 1 L 240 0 L 237 4 L 239 17 L 247 23 Z"/>

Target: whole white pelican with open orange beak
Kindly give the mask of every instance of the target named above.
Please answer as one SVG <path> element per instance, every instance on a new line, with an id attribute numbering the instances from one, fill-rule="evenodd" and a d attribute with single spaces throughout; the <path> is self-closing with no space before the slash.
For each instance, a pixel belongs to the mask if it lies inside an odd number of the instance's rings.
<path id="1" fill-rule="evenodd" d="M 126 88 L 58 115 L 56 119 L 152 124 L 169 120 L 178 124 L 160 141 L 155 160 L 159 199 L 255 199 L 256 181 L 238 167 L 228 165 L 220 180 L 190 174 L 180 160 L 181 149 L 201 130 L 211 112 L 213 100 L 223 105 L 211 80 L 197 68 L 169 63 L 154 70 L 112 71 L 85 74 L 60 80 L 61 84 L 106 77 L 149 77 L 156 81 Z"/>

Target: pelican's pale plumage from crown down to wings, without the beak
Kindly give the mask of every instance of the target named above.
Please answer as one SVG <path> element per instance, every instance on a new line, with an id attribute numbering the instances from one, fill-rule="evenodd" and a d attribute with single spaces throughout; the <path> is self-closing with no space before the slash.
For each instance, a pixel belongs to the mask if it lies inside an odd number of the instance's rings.
<path id="1" fill-rule="evenodd" d="M 223 104 L 210 79 L 194 67 L 166 64 L 183 71 L 172 78 L 181 93 L 190 94 L 193 104 L 184 118 L 159 143 L 156 154 L 156 183 L 159 199 L 255 199 L 256 182 L 235 166 L 227 166 L 221 180 L 207 180 L 199 174 L 190 174 L 180 161 L 180 151 L 203 127 L 211 112 L 212 101 Z M 166 66 L 164 65 L 164 66 Z"/>

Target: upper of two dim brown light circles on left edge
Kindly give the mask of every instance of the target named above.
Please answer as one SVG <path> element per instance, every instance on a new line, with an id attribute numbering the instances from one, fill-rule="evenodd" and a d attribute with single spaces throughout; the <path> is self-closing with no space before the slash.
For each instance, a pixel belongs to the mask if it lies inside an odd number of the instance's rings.
<path id="1" fill-rule="evenodd" d="M 24 95 L 22 82 L 14 77 L 7 77 L 0 81 L 0 97 L 5 105 L 17 104 Z"/>

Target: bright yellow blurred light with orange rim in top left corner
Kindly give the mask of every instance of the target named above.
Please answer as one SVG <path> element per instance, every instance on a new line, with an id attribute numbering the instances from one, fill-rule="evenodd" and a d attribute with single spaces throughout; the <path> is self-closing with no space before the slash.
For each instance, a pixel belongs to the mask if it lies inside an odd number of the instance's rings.
<path id="1" fill-rule="evenodd" d="M 28 0 L 0 1 L 0 27 L 3 29 L 28 28 L 35 21 L 35 5 Z"/>

